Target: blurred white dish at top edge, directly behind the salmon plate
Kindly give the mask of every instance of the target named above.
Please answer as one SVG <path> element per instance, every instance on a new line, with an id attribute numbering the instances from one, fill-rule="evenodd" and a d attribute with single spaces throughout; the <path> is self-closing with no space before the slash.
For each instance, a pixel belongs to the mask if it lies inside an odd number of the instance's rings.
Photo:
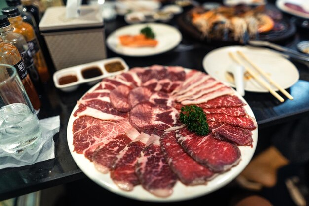
<path id="1" fill-rule="evenodd" d="M 116 0 L 116 11 L 119 15 L 125 15 L 130 12 L 156 11 L 161 7 L 157 0 Z"/>

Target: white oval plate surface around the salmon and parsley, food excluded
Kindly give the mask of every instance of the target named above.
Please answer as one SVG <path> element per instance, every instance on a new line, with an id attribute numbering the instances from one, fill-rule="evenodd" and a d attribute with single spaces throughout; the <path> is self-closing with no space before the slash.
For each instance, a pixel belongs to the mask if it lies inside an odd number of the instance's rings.
<path id="1" fill-rule="evenodd" d="M 158 41 L 155 47 L 131 48 L 120 44 L 120 35 L 137 35 L 146 26 L 150 26 L 155 33 L 155 39 Z M 112 51 L 125 56 L 152 56 L 173 49 L 181 40 L 182 35 L 175 27 L 167 24 L 147 23 L 121 27 L 108 36 L 106 43 Z"/>

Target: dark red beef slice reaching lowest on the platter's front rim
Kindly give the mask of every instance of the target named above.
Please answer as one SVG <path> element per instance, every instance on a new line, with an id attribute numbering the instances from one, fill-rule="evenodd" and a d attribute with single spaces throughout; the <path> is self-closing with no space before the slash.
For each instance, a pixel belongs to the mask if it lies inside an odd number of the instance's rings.
<path id="1" fill-rule="evenodd" d="M 177 176 L 166 163 L 160 148 L 163 131 L 154 129 L 146 147 L 137 159 L 135 173 L 143 188 L 158 197 L 173 193 Z"/>

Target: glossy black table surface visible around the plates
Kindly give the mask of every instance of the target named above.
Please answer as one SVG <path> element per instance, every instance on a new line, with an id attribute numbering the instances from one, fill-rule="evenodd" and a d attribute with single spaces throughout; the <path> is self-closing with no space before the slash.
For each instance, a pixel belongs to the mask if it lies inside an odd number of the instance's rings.
<path id="1" fill-rule="evenodd" d="M 168 24 L 177 27 L 175 20 Z M 106 36 L 124 25 L 126 23 L 123 17 L 106 22 Z M 308 37 L 309 31 L 297 28 L 293 37 L 277 43 L 296 49 L 296 44 L 307 40 Z M 180 65 L 204 71 L 202 59 L 208 52 L 220 46 L 202 43 L 183 33 L 181 43 L 164 54 L 150 57 L 127 57 L 116 54 L 107 48 L 107 56 L 108 58 L 120 56 L 129 67 L 143 67 L 152 64 Z M 288 89 L 294 97 L 293 101 L 286 100 L 284 103 L 280 103 L 269 93 L 246 92 L 244 99 L 252 108 L 259 128 L 266 128 L 309 114 L 309 68 L 306 63 L 295 60 L 292 62 L 300 74 L 299 81 Z M 51 73 L 53 73 L 52 70 Z M 54 136 L 55 159 L 29 166 L 1 169 L 0 200 L 86 178 L 70 154 L 67 143 L 67 125 L 77 100 L 90 88 L 88 85 L 81 85 L 76 91 L 65 93 L 55 88 L 52 80 L 45 85 L 39 119 L 60 115 L 60 132 Z"/>

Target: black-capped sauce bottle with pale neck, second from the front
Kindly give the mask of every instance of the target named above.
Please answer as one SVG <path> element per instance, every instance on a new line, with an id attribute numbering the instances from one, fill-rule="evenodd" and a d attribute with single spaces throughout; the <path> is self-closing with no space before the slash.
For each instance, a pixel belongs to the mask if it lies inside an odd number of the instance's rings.
<path id="1" fill-rule="evenodd" d="M 33 57 L 28 48 L 27 41 L 24 36 L 20 33 L 13 32 L 14 28 L 11 27 L 6 16 L 0 15 L 0 33 L 1 38 L 5 43 L 14 45 L 19 51 L 27 69 L 27 72 L 30 76 L 32 83 L 34 84 L 37 92 L 42 94 L 42 83 L 39 78 L 39 73 L 34 65 Z"/>

